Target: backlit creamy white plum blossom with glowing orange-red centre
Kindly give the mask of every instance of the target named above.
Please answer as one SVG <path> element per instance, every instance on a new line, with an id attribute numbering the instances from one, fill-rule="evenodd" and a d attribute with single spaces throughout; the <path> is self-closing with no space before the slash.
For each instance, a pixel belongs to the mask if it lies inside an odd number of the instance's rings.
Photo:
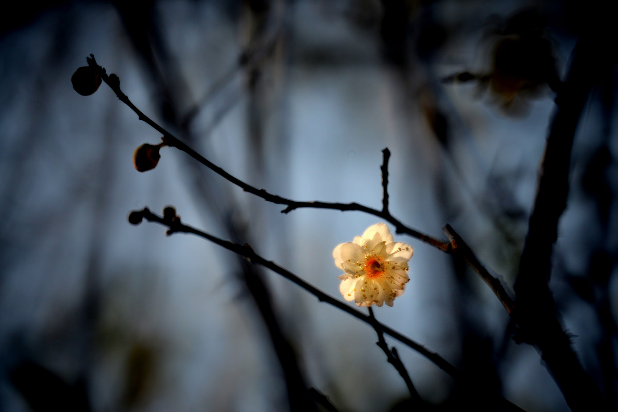
<path id="1" fill-rule="evenodd" d="M 353 242 L 337 245 L 332 257 L 335 266 L 345 271 L 339 276 L 339 290 L 345 300 L 353 300 L 357 306 L 382 306 L 384 301 L 392 306 L 410 280 L 407 271 L 412 246 L 394 242 L 384 223 L 368 227 Z"/>

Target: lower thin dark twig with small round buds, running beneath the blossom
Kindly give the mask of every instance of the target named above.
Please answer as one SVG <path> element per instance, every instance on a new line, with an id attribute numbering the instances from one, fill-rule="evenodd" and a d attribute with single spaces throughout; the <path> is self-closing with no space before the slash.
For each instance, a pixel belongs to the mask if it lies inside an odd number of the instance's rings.
<path id="1" fill-rule="evenodd" d="M 234 253 L 239 254 L 240 256 L 243 256 L 244 258 L 247 258 L 247 260 L 253 264 L 259 264 L 260 266 L 264 266 L 268 269 L 271 269 L 271 271 L 276 272 L 279 275 L 282 275 L 286 279 L 291 280 L 298 286 L 307 290 L 307 292 L 316 296 L 318 300 L 329 303 L 332 306 L 336 306 L 336 308 L 339 308 L 342 311 L 347 312 L 354 317 L 357 317 L 357 319 L 360 319 L 366 324 L 374 328 L 377 327 L 384 334 L 387 334 L 393 338 L 396 338 L 397 340 L 399 340 L 399 342 L 404 343 L 404 345 L 407 345 L 408 347 L 417 351 L 421 355 L 425 356 L 431 362 L 436 364 L 438 368 L 442 369 L 444 372 L 452 376 L 455 380 L 462 380 L 465 378 L 464 374 L 459 369 L 457 369 L 453 364 L 449 363 L 449 361 L 447 361 L 446 359 L 442 358 L 442 356 L 438 355 L 438 353 L 428 350 L 427 348 L 425 348 L 425 346 L 421 345 L 420 343 L 415 342 L 414 340 L 400 334 L 396 330 L 391 329 L 390 327 L 380 323 L 379 321 L 375 319 L 372 320 L 370 316 L 367 316 L 361 311 L 358 311 L 357 309 L 353 309 L 347 304 L 343 303 L 342 301 L 339 301 L 333 298 L 332 296 L 322 292 L 320 289 L 309 284 L 308 282 L 305 282 L 305 280 L 300 279 L 300 277 L 293 274 L 292 272 L 287 271 L 286 269 L 284 269 L 281 266 L 278 266 L 276 263 L 272 261 L 268 261 L 262 258 L 258 254 L 256 254 L 255 251 L 253 251 L 253 248 L 247 243 L 245 243 L 245 245 L 239 245 L 238 243 L 228 242 L 227 240 L 219 239 L 218 237 L 214 237 L 213 235 L 210 235 L 206 232 L 202 232 L 201 230 L 195 229 L 194 227 L 182 224 L 182 222 L 180 222 L 180 218 L 177 216 L 167 215 L 167 216 L 161 217 L 151 212 L 150 209 L 148 208 L 143 208 L 140 211 L 133 211 L 131 212 L 129 216 L 129 221 L 132 224 L 138 224 L 139 222 L 142 221 L 142 219 L 146 219 L 147 221 L 150 221 L 150 222 L 157 222 L 159 224 L 167 226 L 169 228 L 166 232 L 167 235 L 171 235 L 172 233 L 193 233 L 194 235 L 198 235 L 207 240 L 210 240 L 213 243 L 216 243 L 222 248 L 225 248 L 227 250 L 230 250 Z M 522 412 L 523 411 L 521 408 L 519 408 L 519 406 L 514 405 L 513 403 L 511 403 L 510 401 L 502 397 L 497 398 L 497 401 L 499 402 L 499 405 L 507 411 L 512 411 L 512 412 Z"/>

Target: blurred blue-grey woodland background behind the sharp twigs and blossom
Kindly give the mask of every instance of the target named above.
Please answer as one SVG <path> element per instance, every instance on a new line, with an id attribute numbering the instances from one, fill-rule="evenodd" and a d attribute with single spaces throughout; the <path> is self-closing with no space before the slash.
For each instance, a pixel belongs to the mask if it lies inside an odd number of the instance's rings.
<path id="1" fill-rule="evenodd" d="M 146 115 L 294 200 L 381 208 L 388 147 L 393 216 L 444 239 L 451 224 L 512 285 L 555 90 L 594 2 L 127 4 L 20 2 L 0 17 L 0 410 L 287 411 L 295 384 L 342 412 L 403 410 L 404 381 L 370 327 L 201 238 L 127 215 L 173 205 L 186 224 L 248 242 L 337 298 L 333 248 L 379 220 L 281 214 L 171 148 L 137 172 L 133 150 L 161 135 L 106 85 L 78 95 L 71 75 L 93 53 Z M 551 288 L 616 409 L 616 86 L 598 83 L 575 138 Z M 530 412 L 568 410 L 471 269 L 396 240 L 415 250 L 410 282 L 394 307 L 376 308 L 380 321 L 472 387 Z M 498 410 L 387 342 L 435 410 Z"/>

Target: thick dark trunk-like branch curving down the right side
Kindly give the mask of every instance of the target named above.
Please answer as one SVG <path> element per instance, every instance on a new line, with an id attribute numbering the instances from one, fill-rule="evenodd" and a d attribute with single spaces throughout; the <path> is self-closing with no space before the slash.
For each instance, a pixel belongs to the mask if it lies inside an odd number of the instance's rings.
<path id="1" fill-rule="evenodd" d="M 613 15 L 613 14 L 612 14 Z M 595 30 L 609 30 L 611 23 L 595 23 Z M 574 57 L 552 120 L 535 206 L 515 282 L 517 310 L 514 320 L 520 339 L 535 345 L 565 400 L 573 411 L 604 411 L 601 391 L 582 368 L 570 338 L 562 330 L 554 299 L 549 290 L 552 246 L 557 238 L 558 220 L 569 193 L 569 164 L 578 120 L 599 72 L 609 72 L 616 64 L 616 48 L 604 44 L 614 33 L 583 36 Z M 608 38 L 609 37 L 609 38 Z M 611 43 L 611 42 L 610 42 Z"/>

